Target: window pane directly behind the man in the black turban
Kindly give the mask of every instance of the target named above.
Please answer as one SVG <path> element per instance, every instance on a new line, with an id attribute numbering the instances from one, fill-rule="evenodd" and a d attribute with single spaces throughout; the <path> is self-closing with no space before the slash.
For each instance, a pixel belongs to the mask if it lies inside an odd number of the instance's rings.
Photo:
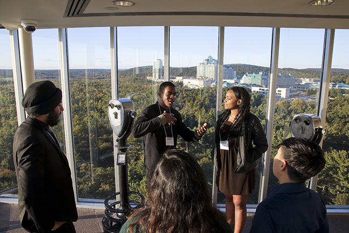
<path id="1" fill-rule="evenodd" d="M 61 86 L 58 29 L 38 29 L 32 34 L 35 82 L 49 80 Z M 64 119 L 53 127 L 61 149 L 65 152 Z"/>

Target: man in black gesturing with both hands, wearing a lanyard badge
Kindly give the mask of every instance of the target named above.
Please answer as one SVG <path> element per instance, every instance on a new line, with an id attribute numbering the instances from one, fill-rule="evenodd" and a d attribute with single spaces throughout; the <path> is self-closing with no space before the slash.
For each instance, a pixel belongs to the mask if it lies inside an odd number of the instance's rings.
<path id="1" fill-rule="evenodd" d="M 143 136 L 148 187 L 162 154 L 168 149 L 176 148 L 178 135 L 186 142 L 196 142 L 207 130 L 207 123 L 196 131 L 185 126 L 180 113 L 173 107 L 177 97 L 173 83 L 162 83 L 158 97 L 158 102 L 141 112 L 131 131 L 134 138 Z"/>

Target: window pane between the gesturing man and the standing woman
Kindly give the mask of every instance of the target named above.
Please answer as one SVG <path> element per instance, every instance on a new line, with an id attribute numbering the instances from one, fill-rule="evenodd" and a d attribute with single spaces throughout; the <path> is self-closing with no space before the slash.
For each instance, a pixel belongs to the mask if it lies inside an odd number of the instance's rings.
<path id="1" fill-rule="evenodd" d="M 217 67 L 218 27 L 170 27 L 170 80 L 179 93 L 174 107 L 191 130 L 208 124 L 201 140 L 190 143 L 178 137 L 177 148 L 196 156 L 211 186 L 217 96 L 211 84 L 217 79 Z"/>

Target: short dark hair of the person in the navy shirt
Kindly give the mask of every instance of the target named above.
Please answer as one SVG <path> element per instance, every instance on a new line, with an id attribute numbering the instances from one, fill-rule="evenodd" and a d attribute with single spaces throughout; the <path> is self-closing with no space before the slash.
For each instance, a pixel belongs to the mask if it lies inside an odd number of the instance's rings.
<path id="1" fill-rule="evenodd" d="M 325 166 L 324 151 L 306 138 L 287 138 L 278 145 L 281 156 L 287 162 L 289 179 L 300 183 L 319 173 Z"/>

